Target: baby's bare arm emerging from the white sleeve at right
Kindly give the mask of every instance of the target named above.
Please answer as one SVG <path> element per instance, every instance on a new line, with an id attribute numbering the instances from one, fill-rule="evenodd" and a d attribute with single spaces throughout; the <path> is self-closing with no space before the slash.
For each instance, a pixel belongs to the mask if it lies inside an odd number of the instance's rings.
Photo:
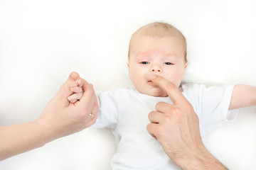
<path id="1" fill-rule="evenodd" d="M 235 85 L 228 110 L 256 106 L 256 87 Z"/>

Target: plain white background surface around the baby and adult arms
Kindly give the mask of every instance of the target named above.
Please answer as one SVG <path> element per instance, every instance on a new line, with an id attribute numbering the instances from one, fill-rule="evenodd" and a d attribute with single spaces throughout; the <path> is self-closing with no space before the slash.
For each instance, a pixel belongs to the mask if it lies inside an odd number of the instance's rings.
<path id="1" fill-rule="evenodd" d="M 97 91 L 129 87 L 129 38 L 154 21 L 186 36 L 186 82 L 256 86 L 255 0 L 1 0 L 0 126 L 38 118 L 72 71 Z M 256 107 L 203 141 L 228 168 L 256 169 Z M 0 169 L 110 169 L 115 150 L 110 130 L 88 128 L 6 159 Z"/>

